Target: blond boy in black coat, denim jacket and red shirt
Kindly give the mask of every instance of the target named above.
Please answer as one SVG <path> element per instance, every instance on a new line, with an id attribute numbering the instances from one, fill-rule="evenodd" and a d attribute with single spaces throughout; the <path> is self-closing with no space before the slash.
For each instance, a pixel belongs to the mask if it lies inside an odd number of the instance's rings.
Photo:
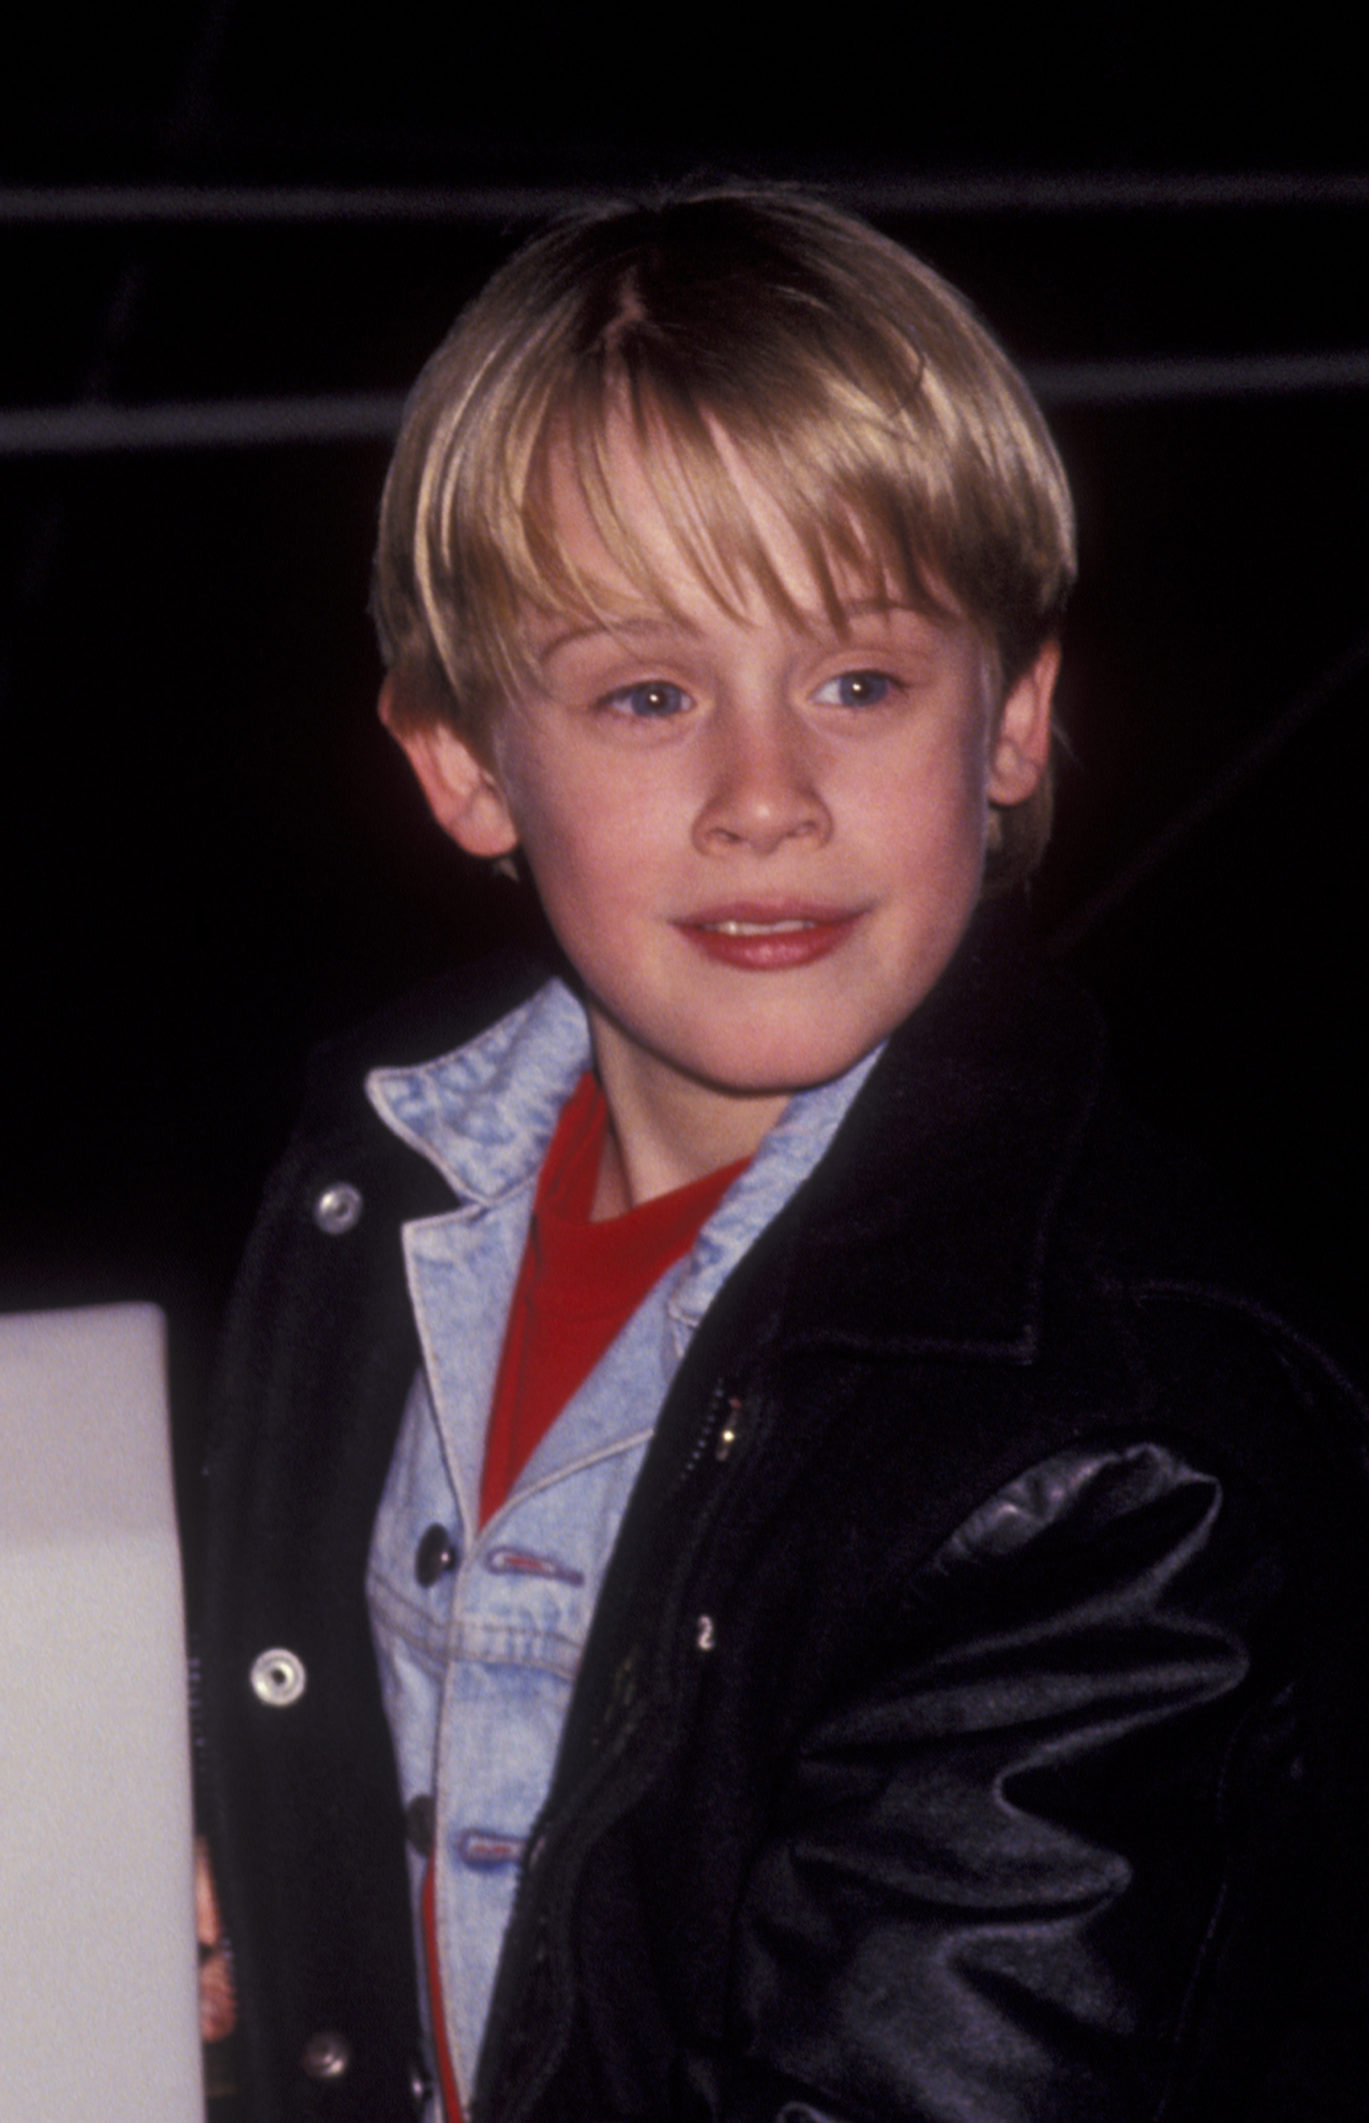
<path id="1" fill-rule="evenodd" d="M 337 1049 L 244 1267 L 261 2123 L 1350 2112 L 1356 1414 L 1025 951 L 1072 567 L 1004 355 L 783 191 L 424 372 L 382 715 L 567 966 Z"/>

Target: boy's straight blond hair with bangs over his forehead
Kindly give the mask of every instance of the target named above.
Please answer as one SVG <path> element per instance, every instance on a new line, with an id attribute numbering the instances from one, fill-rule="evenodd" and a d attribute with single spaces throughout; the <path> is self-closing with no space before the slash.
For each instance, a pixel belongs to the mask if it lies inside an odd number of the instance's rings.
<path id="1" fill-rule="evenodd" d="M 669 607 L 616 501 L 622 420 L 679 550 L 720 605 L 749 577 L 796 618 L 720 437 L 838 577 L 983 633 L 1002 694 L 1059 631 L 1070 488 L 1027 384 L 968 304 L 866 223 L 785 189 L 575 214 L 518 251 L 424 367 L 391 465 L 374 609 L 391 718 L 475 749 L 533 677 L 526 622 L 599 620 L 562 552 L 548 463 L 571 450 L 607 552 Z M 998 881 L 1032 868 L 1049 786 L 1006 809 Z"/>

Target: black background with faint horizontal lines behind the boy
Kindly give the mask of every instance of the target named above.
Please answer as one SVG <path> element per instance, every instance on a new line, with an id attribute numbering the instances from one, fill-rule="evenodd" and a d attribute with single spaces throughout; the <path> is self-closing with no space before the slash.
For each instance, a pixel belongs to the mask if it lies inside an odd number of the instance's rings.
<path id="1" fill-rule="evenodd" d="M 306 1049 L 518 919 L 374 722 L 393 405 L 548 202 L 690 172 L 864 206 L 1038 378 L 1085 565 L 1040 926 L 1140 1102 L 1358 1306 L 1354 21 L 968 13 L 6 28 L 0 1304 L 168 1304 L 187 1459 Z"/>

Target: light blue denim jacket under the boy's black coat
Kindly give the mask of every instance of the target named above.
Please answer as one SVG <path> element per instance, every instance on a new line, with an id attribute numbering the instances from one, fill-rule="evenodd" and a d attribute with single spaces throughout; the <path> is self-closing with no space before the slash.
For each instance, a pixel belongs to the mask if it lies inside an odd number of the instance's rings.
<path id="1" fill-rule="evenodd" d="M 586 1017 L 554 981 L 469 1047 L 367 1078 L 380 1119 L 458 1197 L 458 1208 L 403 1229 L 422 1363 L 376 1518 L 367 1601 L 401 1796 L 418 1824 L 416 1921 L 429 1839 L 435 1853 L 448 2042 L 467 2104 L 518 1868 L 656 1416 L 698 1321 L 824 1155 L 872 1064 L 866 1055 L 790 1102 L 694 1250 L 639 1306 L 484 1526 L 480 1475 L 503 1329 L 541 1161 L 590 1066 Z M 416 1569 L 427 1529 L 446 1537 L 435 1575 Z"/>

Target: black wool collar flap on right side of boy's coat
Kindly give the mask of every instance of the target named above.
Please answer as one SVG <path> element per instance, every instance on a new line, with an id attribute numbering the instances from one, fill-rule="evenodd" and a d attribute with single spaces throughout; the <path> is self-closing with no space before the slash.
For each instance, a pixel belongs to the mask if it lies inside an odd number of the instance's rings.
<path id="1" fill-rule="evenodd" d="M 785 1216 L 781 1346 L 1027 1363 L 1102 1045 L 1021 911 L 985 909 Z"/>

